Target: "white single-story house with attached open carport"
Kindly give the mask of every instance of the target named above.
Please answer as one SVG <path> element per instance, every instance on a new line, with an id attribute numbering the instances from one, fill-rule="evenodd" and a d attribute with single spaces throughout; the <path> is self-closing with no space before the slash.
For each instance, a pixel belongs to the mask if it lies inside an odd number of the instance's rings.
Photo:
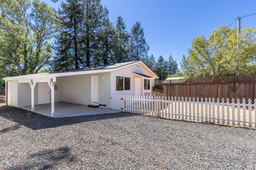
<path id="1" fill-rule="evenodd" d="M 111 95 L 151 96 L 156 74 L 142 61 L 109 64 L 64 72 L 3 78 L 6 105 L 14 107 L 65 102 L 111 108 Z"/>

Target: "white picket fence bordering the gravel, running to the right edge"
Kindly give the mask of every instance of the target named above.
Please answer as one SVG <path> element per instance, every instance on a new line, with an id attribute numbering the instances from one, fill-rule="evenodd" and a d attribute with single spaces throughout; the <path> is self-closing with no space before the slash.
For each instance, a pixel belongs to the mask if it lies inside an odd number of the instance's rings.
<path id="1" fill-rule="evenodd" d="M 254 104 L 249 99 L 243 99 L 242 103 L 238 99 L 219 98 L 164 98 L 158 96 L 127 96 L 112 95 L 111 108 L 124 112 L 138 113 L 174 119 L 184 119 L 190 121 L 202 121 L 220 123 L 225 125 L 238 125 L 256 128 L 256 99 Z"/>

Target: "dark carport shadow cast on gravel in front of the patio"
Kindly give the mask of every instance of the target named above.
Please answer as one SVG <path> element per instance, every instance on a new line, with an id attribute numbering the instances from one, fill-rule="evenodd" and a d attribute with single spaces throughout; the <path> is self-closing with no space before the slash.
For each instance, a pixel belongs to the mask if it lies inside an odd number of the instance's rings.
<path id="1" fill-rule="evenodd" d="M 2 106 L 0 107 L 0 121 L 1 119 L 8 119 L 18 123 L 19 125 L 24 125 L 30 129 L 47 129 L 52 127 L 59 127 L 64 125 L 72 125 L 75 123 L 82 123 L 88 121 L 97 121 L 104 119 L 115 119 L 120 117 L 130 117 L 136 114 L 132 113 L 108 113 L 100 115 L 88 115 L 88 116 L 78 116 L 78 117 L 62 117 L 62 118 L 52 118 L 38 113 L 34 113 L 28 110 L 24 110 L 17 107 Z M 2 118 L 1 118 L 2 117 Z M 19 128 L 18 126 L 16 128 Z M 2 129 L 2 133 L 14 130 L 15 127 L 9 127 Z"/>

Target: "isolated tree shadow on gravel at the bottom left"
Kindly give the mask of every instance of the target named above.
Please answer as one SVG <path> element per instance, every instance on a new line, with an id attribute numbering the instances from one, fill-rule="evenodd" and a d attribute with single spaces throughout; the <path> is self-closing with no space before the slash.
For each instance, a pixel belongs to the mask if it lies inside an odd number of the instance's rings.
<path id="1" fill-rule="evenodd" d="M 43 150 L 30 154 L 27 158 L 24 158 L 22 164 L 11 167 L 9 170 L 13 169 L 52 169 L 58 165 L 66 162 L 70 164 L 74 161 L 74 157 L 70 154 L 70 149 L 68 147 L 60 147 L 54 150 Z M 33 163 L 31 163 L 33 162 Z"/>

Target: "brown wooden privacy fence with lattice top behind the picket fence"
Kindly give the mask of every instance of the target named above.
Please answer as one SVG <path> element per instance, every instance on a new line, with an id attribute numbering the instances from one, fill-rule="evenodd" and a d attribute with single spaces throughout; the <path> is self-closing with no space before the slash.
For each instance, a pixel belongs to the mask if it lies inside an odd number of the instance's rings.
<path id="1" fill-rule="evenodd" d="M 253 103 L 255 99 L 255 75 L 157 81 L 164 86 L 162 96 L 234 98 L 235 101 L 245 98 L 246 102 L 250 98 Z"/>

